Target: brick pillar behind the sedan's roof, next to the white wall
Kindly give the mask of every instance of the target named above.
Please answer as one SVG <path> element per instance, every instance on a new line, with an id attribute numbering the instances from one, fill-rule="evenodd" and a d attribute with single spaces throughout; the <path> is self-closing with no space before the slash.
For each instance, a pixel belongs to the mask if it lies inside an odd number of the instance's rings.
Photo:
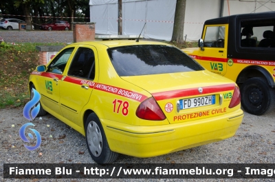
<path id="1" fill-rule="evenodd" d="M 74 43 L 81 41 L 94 41 L 96 34 L 96 23 L 73 22 Z"/>

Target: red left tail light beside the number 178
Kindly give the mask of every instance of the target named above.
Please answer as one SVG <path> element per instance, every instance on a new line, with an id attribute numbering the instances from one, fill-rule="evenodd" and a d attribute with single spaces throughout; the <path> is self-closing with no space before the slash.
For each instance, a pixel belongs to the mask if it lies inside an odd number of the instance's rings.
<path id="1" fill-rule="evenodd" d="M 140 103 L 135 114 L 140 119 L 146 120 L 161 121 L 166 119 L 164 113 L 162 112 L 162 109 L 159 108 L 159 105 L 153 97 L 150 97 Z"/>

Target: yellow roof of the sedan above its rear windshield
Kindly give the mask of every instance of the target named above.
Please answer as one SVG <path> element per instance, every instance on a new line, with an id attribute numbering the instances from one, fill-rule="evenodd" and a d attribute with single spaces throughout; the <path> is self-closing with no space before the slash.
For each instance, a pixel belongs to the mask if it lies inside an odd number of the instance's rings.
<path id="1" fill-rule="evenodd" d="M 86 41 L 78 42 L 73 45 L 105 45 L 109 48 L 121 47 L 126 45 L 169 45 L 168 43 L 159 42 L 159 41 L 142 41 L 136 42 L 136 40 L 113 40 L 113 41 Z"/>

